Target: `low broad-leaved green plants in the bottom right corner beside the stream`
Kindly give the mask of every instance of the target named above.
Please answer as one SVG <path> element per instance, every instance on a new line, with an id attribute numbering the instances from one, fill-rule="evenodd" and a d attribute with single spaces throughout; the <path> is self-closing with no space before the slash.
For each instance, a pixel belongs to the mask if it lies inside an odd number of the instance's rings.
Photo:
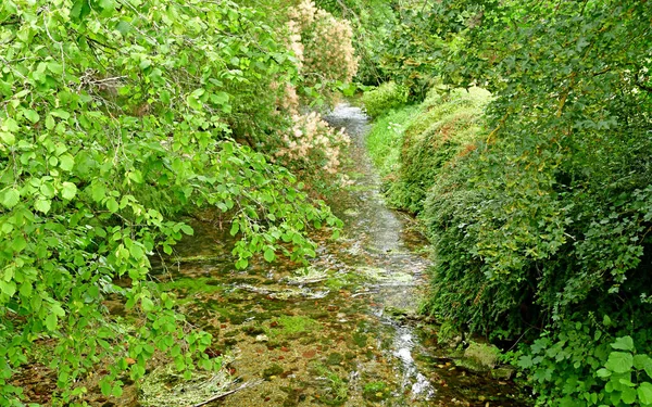
<path id="1" fill-rule="evenodd" d="M 652 358 L 631 336 L 610 340 L 602 323 L 565 323 L 556 338 L 536 340 L 517 366 L 549 406 L 649 406 Z"/>

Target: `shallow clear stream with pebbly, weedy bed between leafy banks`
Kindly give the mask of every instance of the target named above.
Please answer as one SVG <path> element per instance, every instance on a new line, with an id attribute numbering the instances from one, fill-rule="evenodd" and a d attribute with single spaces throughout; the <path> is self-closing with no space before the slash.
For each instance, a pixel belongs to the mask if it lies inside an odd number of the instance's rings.
<path id="1" fill-rule="evenodd" d="M 235 357 L 233 376 L 260 381 L 213 405 L 528 405 L 512 382 L 457 367 L 418 322 L 427 242 L 383 200 L 364 148 L 366 116 L 343 104 L 327 119 L 351 136 L 353 185 L 329 202 L 343 237 L 317 238 L 309 268 L 261 260 L 237 271 L 233 241 L 205 221 L 178 247 L 170 288 L 185 297 L 191 321 L 213 333 L 213 352 Z"/>

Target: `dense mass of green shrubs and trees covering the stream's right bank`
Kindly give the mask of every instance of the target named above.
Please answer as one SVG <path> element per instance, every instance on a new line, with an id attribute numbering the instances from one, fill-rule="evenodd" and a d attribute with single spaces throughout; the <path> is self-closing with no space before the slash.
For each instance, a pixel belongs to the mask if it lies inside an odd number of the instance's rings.
<path id="1" fill-rule="evenodd" d="M 652 4 L 394 7 L 393 61 L 443 85 L 368 92 L 368 148 L 432 242 L 427 313 L 511 349 L 538 405 L 652 405 Z"/>

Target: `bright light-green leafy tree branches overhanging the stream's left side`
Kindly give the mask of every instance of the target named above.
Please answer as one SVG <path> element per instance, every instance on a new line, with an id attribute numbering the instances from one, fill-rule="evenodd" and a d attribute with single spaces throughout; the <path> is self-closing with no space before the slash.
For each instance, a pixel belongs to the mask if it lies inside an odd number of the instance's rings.
<path id="1" fill-rule="evenodd" d="M 106 395 L 124 372 L 141 378 L 154 352 L 185 377 L 220 367 L 203 353 L 211 335 L 148 281 L 149 256 L 193 232 L 175 215 L 233 216 L 239 268 L 255 253 L 313 255 L 306 230 L 338 222 L 231 139 L 253 144 L 281 123 L 267 89 L 297 72 L 273 33 L 228 1 L 2 1 L 0 405 L 21 405 L 11 377 L 41 343 L 62 400 L 78 399 L 74 383 L 100 363 Z M 109 294 L 133 330 L 105 314 Z"/>

